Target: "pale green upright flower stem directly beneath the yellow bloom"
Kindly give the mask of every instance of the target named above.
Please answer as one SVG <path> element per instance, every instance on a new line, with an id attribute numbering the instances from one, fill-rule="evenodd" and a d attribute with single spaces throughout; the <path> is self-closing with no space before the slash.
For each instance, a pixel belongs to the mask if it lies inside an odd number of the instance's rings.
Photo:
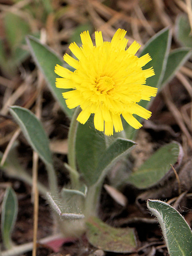
<path id="1" fill-rule="evenodd" d="M 68 133 L 68 163 L 73 172 L 70 172 L 70 180 L 72 189 L 79 187 L 79 174 L 76 169 L 76 134 L 78 128 L 77 116 L 80 113 L 80 108 L 77 107 L 72 119 Z"/>

